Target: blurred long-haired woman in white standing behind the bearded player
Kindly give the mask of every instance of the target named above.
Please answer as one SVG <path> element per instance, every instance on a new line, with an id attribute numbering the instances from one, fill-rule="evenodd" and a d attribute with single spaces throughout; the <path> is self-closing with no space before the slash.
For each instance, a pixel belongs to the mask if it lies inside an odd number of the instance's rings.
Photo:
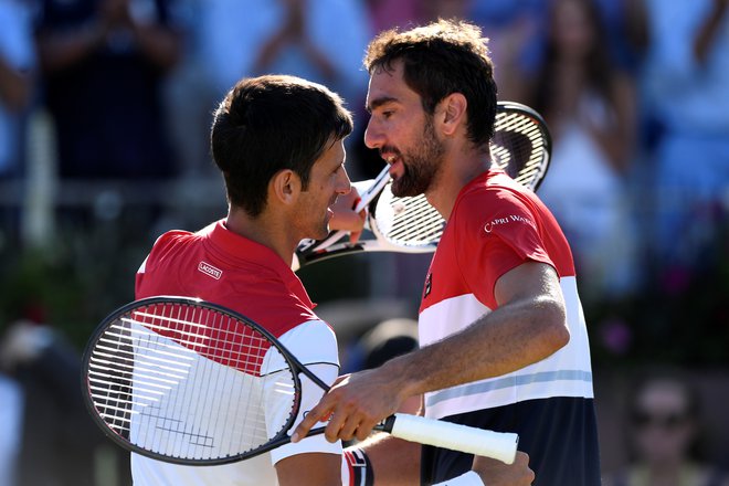
<path id="1" fill-rule="evenodd" d="M 634 285 L 625 182 L 636 133 L 634 83 L 610 56 L 594 1 L 554 0 L 548 22 L 529 103 L 553 138 L 539 196 L 572 242 L 585 296 L 620 295 Z"/>

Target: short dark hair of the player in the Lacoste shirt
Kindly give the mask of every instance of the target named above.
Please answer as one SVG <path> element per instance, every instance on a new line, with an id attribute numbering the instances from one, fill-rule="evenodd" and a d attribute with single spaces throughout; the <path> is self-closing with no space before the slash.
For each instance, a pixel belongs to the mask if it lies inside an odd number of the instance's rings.
<path id="1" fill-rule="evenodd" d="M 296 172 L 306 190 L 314 162 L 352 127 L 344 101 L 320 84 L 285 75 L 241 80 L 215 110 L 210 135 L 228 200 L 260 215 L 282 169 Z"/>

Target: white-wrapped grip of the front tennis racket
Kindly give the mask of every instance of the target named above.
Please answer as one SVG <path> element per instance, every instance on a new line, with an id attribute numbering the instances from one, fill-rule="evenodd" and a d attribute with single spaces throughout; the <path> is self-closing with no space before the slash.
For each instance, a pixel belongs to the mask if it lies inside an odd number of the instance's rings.
<path id="1" fill-rule="evenodd" d="M 402 413 L 387 419 L 384 430 L 405 441 L 492 457 L 505 464 L 514 463 L 519 443 L 519 435 L 515 433 L 487 431 Z"/>

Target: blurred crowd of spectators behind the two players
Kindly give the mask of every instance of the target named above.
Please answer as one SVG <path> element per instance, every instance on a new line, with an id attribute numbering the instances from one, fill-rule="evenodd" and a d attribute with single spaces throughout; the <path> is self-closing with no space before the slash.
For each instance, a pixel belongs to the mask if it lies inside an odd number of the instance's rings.
<path id="1" fill-rule="evenodd" d="M 539 194 L 574 251 L 595 368 L 645 356 L 726 367 L 728 0 L 0 0 L 0 330 L 33 320 L 42 295 L 66 296 L 76 315 L 95 295 L 120 304 L 154 234 L 224 214 L 208 136 L 240 77 L 295 74 L 341 94 L 356 123 L 348 171 L 373 177 L 364 47 L 439 17 L 480 25 L 499 98 L 549 125 Z M 36 272 L 39 254 L 65 273 Z M 341 277 L 349 297 L 416 299 L 427 260 L 380 258 L 377 272 L 361 260 L 345 270 L 369 279 Z M 323 272 L 302 276 L 319 300 Z M 374 345 L 360 335 L 364 366 Z M 3 423 L 22 409 L 13 369 L 0 373 Z M 0 486 L 12 484 L 3 464 Z"/>

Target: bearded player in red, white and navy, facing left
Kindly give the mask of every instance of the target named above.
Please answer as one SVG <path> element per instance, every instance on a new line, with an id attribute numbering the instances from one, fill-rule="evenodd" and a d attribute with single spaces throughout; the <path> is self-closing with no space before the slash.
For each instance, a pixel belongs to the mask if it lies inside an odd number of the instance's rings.
<path id="1" fill-rule="evenodd" d="M 296 433 L 331 416 L 329 440 L 366 440 L 423 393 L 429 418 L 517 432 L 535 484 L 599 485 L 570 246 L 536 194 L 490 167 L 497 88 L 486 42 L 473 24 L 440 20 L 383 32 L 368 47 L 366 144 L 390 163 L 395 196 L 424 193 L 447 223 L 423 288 L 421 349 L 340 378 Z M 419 461 L 420 446 L 393 437 L 358 454 L 374 477 L 403 483 L 418 477 L 418 464 L 424 484 L 462 480 L 472 466 L 466 454 L 430 446 Z"/>

